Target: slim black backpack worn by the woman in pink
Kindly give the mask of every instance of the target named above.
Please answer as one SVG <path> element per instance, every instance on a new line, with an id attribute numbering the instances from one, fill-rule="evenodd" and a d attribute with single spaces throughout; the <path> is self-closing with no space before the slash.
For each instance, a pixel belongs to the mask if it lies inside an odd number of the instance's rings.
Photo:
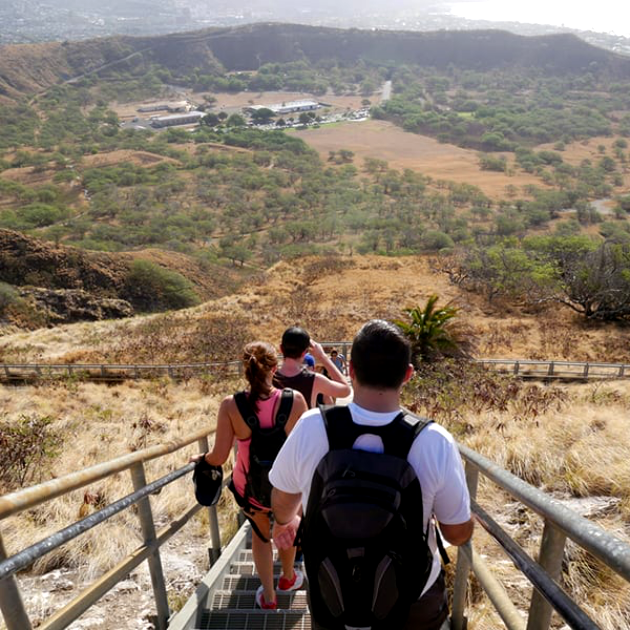
<path id="1" fill-rule="evenodd" d="M 245 483 L 245 499 L 255 499 L 265 507 L 271 506 L 269 471 L 278 451 L 287 439 L 285 426 L 293 407 L 293 390 L 283 389 L 275 422 L 269 429 L 260 428 L 260 420 L 245 392 L 234 394 L 234 402 L 243 420 L 252 431 L 249 444 L 249 471 Z"/>

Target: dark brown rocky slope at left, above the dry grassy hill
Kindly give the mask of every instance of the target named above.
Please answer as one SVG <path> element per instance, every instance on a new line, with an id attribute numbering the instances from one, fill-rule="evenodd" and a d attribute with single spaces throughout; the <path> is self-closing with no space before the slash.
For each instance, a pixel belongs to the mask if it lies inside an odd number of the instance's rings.
<path id="1" fill-rule="evenodd" d="M 224 295 L 237 283 L 236 274 L 229 269 L 213 273 L 208 265 L 176 252 L 89 252 L 0 230 L 2 281 L 13 285 L 42 317 L 33 318 L 28 312 L 32 309 L 24 305 L 8 307 L 4 315 L 9 321 L 28 326 L 30 320 L 40 325 L 57 324 L 154 310 L 156 287 L 149 281 L 132 281 L 134 261 L 138 260 L 149 263 L 151 269 L 179 274 L 202 299 Z"/>

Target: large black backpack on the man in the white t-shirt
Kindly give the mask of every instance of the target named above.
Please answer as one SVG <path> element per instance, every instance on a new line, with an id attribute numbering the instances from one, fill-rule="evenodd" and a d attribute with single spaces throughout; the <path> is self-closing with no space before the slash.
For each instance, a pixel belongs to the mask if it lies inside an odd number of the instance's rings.
<path id="1" fill-rule="evenodd" d="M 309 608 L 330 630 L 402 628 L 431 572 L 422 491 L 409 450 L 430 420 L 400 413 L 361 426 L 347 407 L 321 407 L 329 451 L 319 462 L 301 531 Z M 384 453 L 353 449 L 375 434 Z"/>

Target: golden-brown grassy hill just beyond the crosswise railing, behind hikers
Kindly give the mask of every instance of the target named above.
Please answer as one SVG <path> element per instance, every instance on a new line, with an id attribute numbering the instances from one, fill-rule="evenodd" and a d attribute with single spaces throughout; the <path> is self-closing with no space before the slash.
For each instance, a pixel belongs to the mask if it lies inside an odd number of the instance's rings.
<path id="1" fill-rule="evenodd" d="M 281 262 L 239 291 L 192 309 L 118 322 L 78 323 L 0 338 L 0 361 L 162 363 L 226 360 L 252 339 L 278 343 L 299 322 L 319 340 L 351 339 L 372 317 L 403 308 L 460 307 L 460 323 L 479 357 L 630 362 L 627 329 L 587 324 L 569 309 L 525 313 L 489 304 L 431 270 L 423 256 L 310 257 Z"/>

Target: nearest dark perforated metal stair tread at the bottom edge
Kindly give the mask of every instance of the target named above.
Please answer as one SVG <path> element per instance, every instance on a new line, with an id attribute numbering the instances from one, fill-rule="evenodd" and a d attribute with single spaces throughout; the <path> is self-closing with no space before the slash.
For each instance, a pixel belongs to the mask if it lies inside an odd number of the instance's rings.
<path id="1" fill-rule="evenodd" d="M 204 610 L 199 630 L 311 630 L 302 610 Z"/>

